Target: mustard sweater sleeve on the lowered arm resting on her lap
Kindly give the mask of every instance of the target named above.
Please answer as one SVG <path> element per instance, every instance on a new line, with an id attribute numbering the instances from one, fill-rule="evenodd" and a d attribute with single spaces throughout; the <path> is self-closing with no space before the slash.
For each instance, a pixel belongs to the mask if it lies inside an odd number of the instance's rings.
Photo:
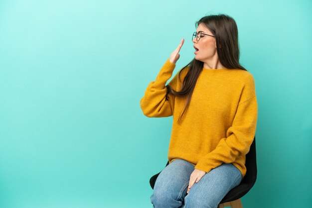
<path id="1" fill-rule="evenodd" d="M 195 168 L 208 173 L 222 163 L 232 163 L 239 155 L 249 152 L 256 133 L 258 104 L 254 79 L 251 77 L 244 86 L 232 126 L 216 148 L 199 159 Z"/>

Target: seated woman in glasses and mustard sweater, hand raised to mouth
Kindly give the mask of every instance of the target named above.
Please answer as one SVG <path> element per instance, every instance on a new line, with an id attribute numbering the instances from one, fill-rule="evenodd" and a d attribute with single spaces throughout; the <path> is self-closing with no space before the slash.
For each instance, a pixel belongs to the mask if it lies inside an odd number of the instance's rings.
<path id="1" fill-rule="evenodd" d="M 246 175 L 256 132 L 255 82 L 239 63 L 235 20 L 209 15 L 195 26 L 194 59 L 165 86 L 182 39 L 140 101 L 148 117 L 173 115 L 169 164 L 156 179 L 154 208 L 216 208 Z"/>

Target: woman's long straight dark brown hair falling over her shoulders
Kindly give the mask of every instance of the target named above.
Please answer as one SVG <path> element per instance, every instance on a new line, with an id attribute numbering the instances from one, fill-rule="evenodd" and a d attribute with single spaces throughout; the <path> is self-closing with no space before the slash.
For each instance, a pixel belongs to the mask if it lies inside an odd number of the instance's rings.
<path id="1" fill-rule="evenodd" d="M 205 24 L 205 26 L 212 32 L 216 38 L 217 54 L 220 63 L 227 69 L 241 69 L 247 71 L 239 63 L 239 43 L 238 43 L 238 30 L 235 20 L 226 15 L 208 15 L 204 16 L 198 21 L 195 22 L 195 27 L 197 28 L 200 23 Z M 198 61 L 195 58 L 191 60 L 187 65 L 185 65 L 179 72 L 178 78 L 180 80 L 180 73 L 189 67 L 187 74 L 182 83 L 182 89 L 180 91 L 173 90 L 169 85 L 166 85 L 167 95 L 166 100 L 168 99 L 168 94 L 172 94 L 178 97 L 186 97 L 187 101 L 184 106 L 182 113 L 179 116 L 178 123 L 185 114 L 186 109 L 190 103 L 195 84 L 199 77 L 200 72 L 203 69 L 204 63 Z"/>

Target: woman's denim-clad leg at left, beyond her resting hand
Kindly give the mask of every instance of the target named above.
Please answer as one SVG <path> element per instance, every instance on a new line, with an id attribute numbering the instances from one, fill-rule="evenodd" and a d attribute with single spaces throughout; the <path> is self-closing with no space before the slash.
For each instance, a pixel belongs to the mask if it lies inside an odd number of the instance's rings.
<path id="1" fill-rule="evenodd" d="M 158 175 L 151 202 L 154 208 L 179 208 L 183 205 L 194 166 L 182 159 L 173 160 Z"/>

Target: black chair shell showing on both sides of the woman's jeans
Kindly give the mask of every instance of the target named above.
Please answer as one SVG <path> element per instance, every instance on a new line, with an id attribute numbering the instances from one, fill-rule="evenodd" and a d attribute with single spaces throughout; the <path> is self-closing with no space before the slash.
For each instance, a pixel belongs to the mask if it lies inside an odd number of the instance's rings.
<path id="1" fill-rule="evenodd" d="M 166 166 L 168 164 L 169 161 L 167 161 Z M 245 194 L 247 194 L 249 190 L 254 186 L 257 179 L 256 136 L 254 137 L 254 140 L 250 146 L 249 152 L 246 154 L 245 166 L 247 172 L 242 182 L 237 187 L 234 187 L 232 190 L 230 190 L 227 195 L 225 195 L 225 197 L 222 199 L 220 204 L 240 199 Z M 154 189 L 156 179 L 160 172 L 152 176 L 150 179 L 150 185 L 152 189 Z"/>

